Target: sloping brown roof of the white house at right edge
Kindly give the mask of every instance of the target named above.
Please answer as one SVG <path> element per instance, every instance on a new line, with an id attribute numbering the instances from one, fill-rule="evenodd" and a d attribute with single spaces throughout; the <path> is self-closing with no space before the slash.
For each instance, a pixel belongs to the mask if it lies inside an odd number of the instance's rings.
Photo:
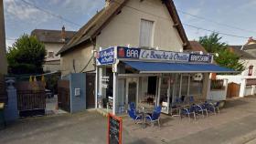
<path id="1" fill-rule="evenodd" d="M 240 59 L 255 59 L 250 53 L 241 50 L 242 46 L 229 46 L 229 50 L 240 57 Z"/>

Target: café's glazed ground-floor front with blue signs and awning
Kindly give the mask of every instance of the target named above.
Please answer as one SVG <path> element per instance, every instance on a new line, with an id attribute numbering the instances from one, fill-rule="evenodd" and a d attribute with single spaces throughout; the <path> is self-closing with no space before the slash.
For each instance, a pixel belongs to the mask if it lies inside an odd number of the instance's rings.
<path id="1" fill-rule="evenodd" d="M 162 106 L 171 113 L 176 98 L 206 99 L 210 73 L 234 73 L 213 64 L 212 55 L 112 46 L 97 53 L 96 108 L 114 115 L 128 104 Z"/>

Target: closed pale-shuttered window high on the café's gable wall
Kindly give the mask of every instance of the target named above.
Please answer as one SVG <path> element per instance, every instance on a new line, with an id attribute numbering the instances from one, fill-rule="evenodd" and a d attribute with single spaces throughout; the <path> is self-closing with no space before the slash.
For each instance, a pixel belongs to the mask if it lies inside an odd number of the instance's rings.
<path id="1" fill-rule="evenodd" d="M 152 47 L 153 45 L 153 26 L 154 22 L 142 19 L 140 29 L 140 46 Z"/>

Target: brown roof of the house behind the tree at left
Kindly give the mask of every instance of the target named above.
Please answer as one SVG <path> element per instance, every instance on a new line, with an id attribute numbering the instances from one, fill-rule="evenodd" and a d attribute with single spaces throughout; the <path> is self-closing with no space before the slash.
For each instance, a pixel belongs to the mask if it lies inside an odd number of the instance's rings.
<path id="1" fill-rule="evenodd" d="M 75 31 L 65 31 L 66 42 L 75 35 Z M 31 35 L 37 36 L 40 42 L 44 43 L 65 43 L 61 37 L 61 30 L 48 30 L 48 29 L 34 29 Z"/>

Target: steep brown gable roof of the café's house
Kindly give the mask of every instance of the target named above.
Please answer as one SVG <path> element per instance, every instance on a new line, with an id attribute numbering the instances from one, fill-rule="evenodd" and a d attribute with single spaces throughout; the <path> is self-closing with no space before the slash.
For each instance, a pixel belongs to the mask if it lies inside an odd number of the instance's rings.
<path id="1" fill-rule="evenodd" d="M 69 40 L 69 43 L 59 50 L 57 55 L 62 54 L 76 46 L 79 46 L 82 43 L 91 42 L 92 39 L 100 34 L 104 26 L 106 26 L 112 20 L 112 17 L 122 10 L 123 6 L 128 1 L 129 0 L 114 0 L 110 3 L 110 5 L 103 7 L 101 11 L 94 15 L 86 25 L 80 28 L 76 35 Z M 166 5 L 170 16 L 175 23 L 175 27 L 184 43 L 184 46 L 188 47 L 189 43 L 187 36 L 179 16 L 177 15 L 176 6 L 174 5 L 173 0 L 165 0 L 163 3 Z"/>

